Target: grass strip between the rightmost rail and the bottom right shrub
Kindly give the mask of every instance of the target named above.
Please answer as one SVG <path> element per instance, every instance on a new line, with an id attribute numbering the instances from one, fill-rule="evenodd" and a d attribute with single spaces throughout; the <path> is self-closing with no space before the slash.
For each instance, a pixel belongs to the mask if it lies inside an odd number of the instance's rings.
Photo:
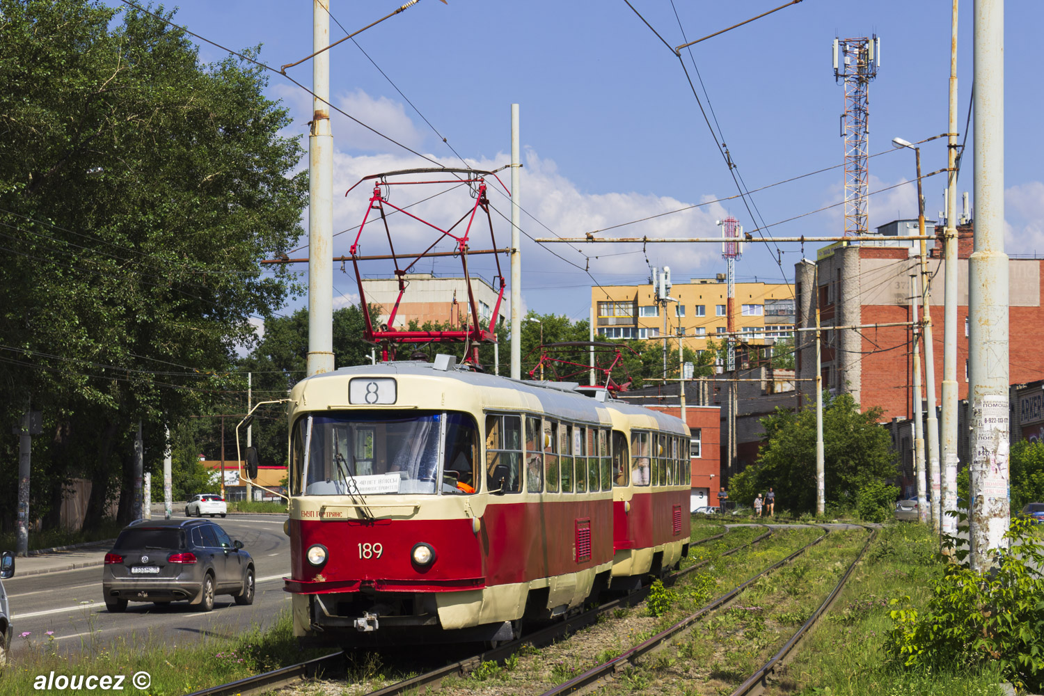
<path id="1" fill-rule="evenodd" d="M 887 600 L 909 596 L 923 607 L 927 580 L 941 562 L 930 530 L 917 523 L 886 525 L 852 574 L 831 611 L 813 629 L 793 662 L 779 671 L 767 693 L 801 696 L 999 696 L 997 673 L 971 673 L 959 665 L 946 673 L 905 670 L 883 650 L 892 627 Z"/>

